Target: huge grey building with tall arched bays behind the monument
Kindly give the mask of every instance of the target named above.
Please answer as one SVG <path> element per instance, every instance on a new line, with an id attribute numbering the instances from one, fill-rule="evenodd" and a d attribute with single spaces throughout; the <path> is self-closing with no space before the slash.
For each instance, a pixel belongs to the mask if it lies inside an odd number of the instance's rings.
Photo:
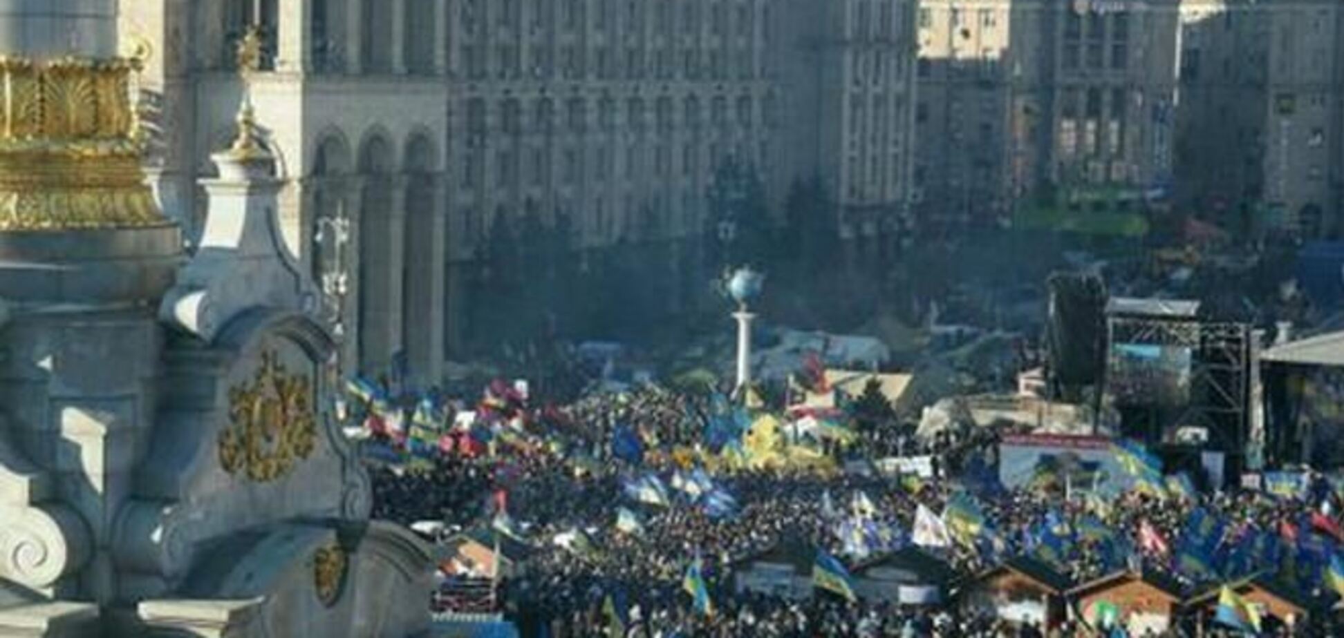
<path id="1" fill-rule="evenodd" d="M 852 214 L 860 231 L 891 226 L 911 183 L 913 12 L 914 0 L 134 0 L 122 35 L 156 50 L 151 164 L 191 231 L 242 99 L 234 46 L 263 27 L 251 99 L 281 158 L 290 247 L 316 275 L 348 259 L 351 367 L 405 351 L 437 379 L 453 348 L 489 333 L 472 309 L 496 297 L 485 247 L 500 222 L 567 228 L 583 267 L 606 247 L 661 243 L 649 254 L 672 308 L 707 283 L 695 243 L 728 157 L 755 165 L 775 201 L 820 175 L 867 211 Z M 355 230 L 345 255 L 319 232 L 337 215 Z"/>

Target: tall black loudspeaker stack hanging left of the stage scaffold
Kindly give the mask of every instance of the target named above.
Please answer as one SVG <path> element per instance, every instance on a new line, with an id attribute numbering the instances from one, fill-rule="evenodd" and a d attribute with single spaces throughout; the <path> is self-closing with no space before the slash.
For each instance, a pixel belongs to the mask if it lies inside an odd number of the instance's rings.
<path id="1" fill-rule="evenodd" d="M 1063 385 L 1101 381 L 1106 344 L 1106 285 L 1095 275 L 1056 273 L 1047 325 L 1050 369 Z"/>

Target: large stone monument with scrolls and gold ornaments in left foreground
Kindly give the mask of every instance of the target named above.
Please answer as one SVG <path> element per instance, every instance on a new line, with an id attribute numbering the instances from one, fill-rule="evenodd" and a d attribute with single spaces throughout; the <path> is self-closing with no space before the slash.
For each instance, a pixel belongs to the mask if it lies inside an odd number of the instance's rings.
<path id="1" fill-rule="evenodd" d="M 423 634 L 431 556 L 370 520 L 250 102 L 185 255 L 116 11 L 0 3 L 0 635 Z"/>

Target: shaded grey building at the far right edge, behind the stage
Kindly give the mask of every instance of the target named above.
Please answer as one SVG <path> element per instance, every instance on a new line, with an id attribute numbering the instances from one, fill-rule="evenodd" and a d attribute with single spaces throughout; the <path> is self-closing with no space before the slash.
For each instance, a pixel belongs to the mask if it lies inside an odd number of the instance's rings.
<path id="1" fill-rule="evenodd" d="M 1179 184 L 1243 232 L 1339 236 L 1344 5 L 1184 0 Z"/>

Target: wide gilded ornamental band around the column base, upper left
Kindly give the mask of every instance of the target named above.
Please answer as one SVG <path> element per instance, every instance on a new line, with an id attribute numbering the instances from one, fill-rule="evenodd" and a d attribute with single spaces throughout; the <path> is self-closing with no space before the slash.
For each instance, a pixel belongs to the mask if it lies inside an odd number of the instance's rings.
<path id="1" fill-rule="evenodd" d="M 0 231 L 164 223 L 140 168 L 138 59 L 0 56 Z"/>

